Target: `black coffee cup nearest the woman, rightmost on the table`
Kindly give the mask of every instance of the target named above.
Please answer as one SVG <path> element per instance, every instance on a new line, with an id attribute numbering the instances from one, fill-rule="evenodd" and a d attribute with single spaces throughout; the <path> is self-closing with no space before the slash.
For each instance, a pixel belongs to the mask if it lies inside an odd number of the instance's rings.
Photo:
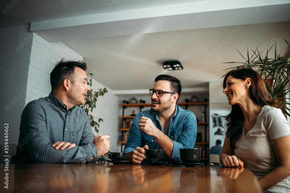
<path id="1" fill-rule="evenodd" d="M 180 149 L 180 158 L 183 163 L 198 163 L 200 155 L 200 148 Z"/>

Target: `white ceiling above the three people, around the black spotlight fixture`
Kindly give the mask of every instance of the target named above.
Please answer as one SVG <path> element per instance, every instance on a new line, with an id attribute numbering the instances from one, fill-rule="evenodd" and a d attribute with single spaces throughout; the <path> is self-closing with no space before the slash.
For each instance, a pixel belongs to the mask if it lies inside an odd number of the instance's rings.
<path id="1" fill-rule="evenodd" d="M 1 8 L 9 3 L 1 2 Z M 237 65 L 222 63 L 242 61 L 236 49 L 246 54 L 247 45 L 255 49 L 260 43 L 262 50 L 275 39 L 281 54 L 289 52 L 282 38 L 290 41 L 289 10 L 290 0 L 27 0 L 0 19 L 1 27 L 31 23 L 31 31 L 48 21 L 37 35 L 83 56 L 88 69 L 97 70 L 95 80 L 116 92 L 133 81 L 130 93 L 147 93 L 159 74 L 182 80 L 184 91 L 207 91 L 208 82 L 224 75 L 222 69 Z M 112 53 L 116 46 L 122 48 Z M 182 71 L 162 68 L 173 59 Z"/>

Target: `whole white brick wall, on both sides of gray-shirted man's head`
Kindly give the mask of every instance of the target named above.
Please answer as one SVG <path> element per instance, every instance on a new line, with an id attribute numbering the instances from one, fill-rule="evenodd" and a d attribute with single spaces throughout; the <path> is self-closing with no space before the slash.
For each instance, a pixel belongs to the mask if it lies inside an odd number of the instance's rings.
<path id="1" fill-rule="evenodd" d="M 49 95 L 51 91 L 50 72 L 55 67 L 55 64 L 61 60 L 61 58 L 75 61 L 83 60 L 82 56 L 77 54 L 63 43 L 49 43 L 39 37 L 37 34 L 33 34 L 25 105 L 32 100 Z M 92 85 L 93 91 L 97 91 L 99 88 L 106 87 L 94 79 Z M 111 152 L 119 152 L 121 150 L 118 142 L 119 101 L 117 101 L 106 113 L 104 113 L 102 109 L 105 109 L 106 105 L 109 104 L 111 100 L 116 98 L 116 95 L 113 94 L 113 91 L 108 87 L 106 88 L 108 93 L 106 93 L 104 97 L 99 97 L 97 99 L 97 108 L 94 109 L 93 116 L 95 121 L 97 121 L 99 117 L 104 120 L 104 122 L 100 123 L 98 134 L 110 135 L 109 140 L 111 145 Z M 97 135 L 94 129 L 93 133 Z"/>

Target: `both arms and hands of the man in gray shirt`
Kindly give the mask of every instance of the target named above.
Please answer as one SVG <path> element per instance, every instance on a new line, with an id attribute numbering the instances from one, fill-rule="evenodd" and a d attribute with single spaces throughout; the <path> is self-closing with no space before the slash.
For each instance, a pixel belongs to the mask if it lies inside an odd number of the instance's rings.
<path id="1" fill-rule="evenodd" d="M 97 161 L 99 155 L 103 155 L 109 150 L 109 136 L 99 135 L 94 138 L 88 120 L 84 123 L 78 146 L 66 141 L 58 141 L 51 145 L 44 110 L 38 104 L 32 103 L 24 111 L 21 116 L 21 132 L 24 136 L 32 136 L 27 141 L 27 147 L 35 163 L 85 163 Z"/>

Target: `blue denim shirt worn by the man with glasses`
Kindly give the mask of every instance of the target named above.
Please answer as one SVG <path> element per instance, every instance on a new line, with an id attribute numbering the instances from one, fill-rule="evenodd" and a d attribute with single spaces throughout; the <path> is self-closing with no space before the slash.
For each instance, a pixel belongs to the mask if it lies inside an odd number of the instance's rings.
<path id="1" fill-rule="evenodd" d="M 139 119 L 141 117 L 150 118 L 154 125 L 161 130 L 158 114 L 155 111 L 146 110 L 138 113 L 134 117 L 129 129 L 128 140 L 123 150 L 125 153 L 132 152 L 136 147 L 143 147 L 145 145 L 148 145 L 149 149 L 161 149 L 154 137 L 147 135 L 139 129 Z M 197 124 L 195 115 L 191 111 L 184 110 L 176 105 L 168 128 L 168 137 L 173 140 L 172 155 L 170 158 L 168 157 L 168 161 L 171 161 L 171 163 L 172 161 L 177 163 L 182 162 L 179 150 L 182 148 L 193 148 L 196 133 Z"/>

